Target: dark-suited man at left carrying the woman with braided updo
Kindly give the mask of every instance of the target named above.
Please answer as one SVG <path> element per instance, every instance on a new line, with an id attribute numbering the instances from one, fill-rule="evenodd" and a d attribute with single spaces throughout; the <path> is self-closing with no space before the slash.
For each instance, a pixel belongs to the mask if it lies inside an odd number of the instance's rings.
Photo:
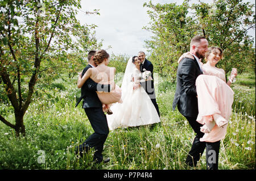
<path id="1" fill-rule="evenodd" d="M 91 50 L 88 53 L 88 65 L 82 70 L 82 73 L 79 75 L 79 79 L 85 74 L 89 68 L 95 67 L 93 61 L 93 56 L 96 53 L 95 50 Z M 106 119 L 105 113 L 102 111 L 102 103 L 98 99 L 96 91 L 105 91 L 110 92 L 110 85 L 101 85 L 94 82 L 92 79 L 87 79 L 82 85 L 81 88 L 81 97 L 76 103 L 76 107 L 79 102 L 82 102 L 82 108 L 84 108 L 85 113 L 92 125 L 94 133 L 90 135 L 87 140 L 85 140 L 81 145 L 76 146 L 75 153 L 80 154 L 82 157 L 83 153 L 89 151 L 90 148 L 94 148 L 96 151 L 94 153 L 93 161 L 100 163 L 103 161 L 102 151 L 104 147 L 104 142 L 109 134 L 108 122 Z M 104 163 L 109 162 L 109 158 L 104 160 Z"/>

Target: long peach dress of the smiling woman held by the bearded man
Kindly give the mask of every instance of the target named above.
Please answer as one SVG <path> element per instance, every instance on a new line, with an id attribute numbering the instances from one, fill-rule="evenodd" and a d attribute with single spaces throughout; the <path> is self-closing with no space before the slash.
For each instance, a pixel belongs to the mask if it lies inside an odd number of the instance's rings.
<path id="1" fill-rule="evenodd" d="M 196 79 L 199 114 L 197 121 L 205 124 L 213 121 L 212 115 L 219 113 L 229 120 L 232 113 L 234 91 L 226 84 L 225 71 L 207 64 L 201 66 L 203 73 Z M 225 138 L 228 124 L 223 127 L 214 125 L 212 131 L 205 133 L 200 141 L 216 142 Z"/>

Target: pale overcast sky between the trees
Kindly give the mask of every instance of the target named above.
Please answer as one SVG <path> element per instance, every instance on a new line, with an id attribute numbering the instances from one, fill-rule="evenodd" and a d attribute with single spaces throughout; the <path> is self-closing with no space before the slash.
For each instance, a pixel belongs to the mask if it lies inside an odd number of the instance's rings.
<path id="1" fill-rule="evenodd" d="M 247 0 L 255 4 L 255 0 Z M 140 50 L 147 53 L 144 40 L 149 40 L 152 33 L 143 30 L 148 26 L 150 18 L 147 7 L 143 7 L 147 0 L 86 0 L 81 1 L 82 11 L 93 11 L 100 9 L 100 15 L 85 15 L 79 11 L 77 19 L 82 24 L 96 24 L 96 38 L 103 39 L 103 49 L 112 54 L 137 55 Z M 183 1 L 178 0 L 152 0 L 153 4 L 176 2 L 180 5 Z M 191 3 L 197 2 L 196 0 Z M 203 2 L 212 3 L 212 0 Z M 255 11 L 255 10 L 254 10 Z M 250 35 L 255 34 L 255 29 Z M 255 37 L 255 35 L 254 35 Z M 112 48 L 108 48 L 111 46 Z"/>

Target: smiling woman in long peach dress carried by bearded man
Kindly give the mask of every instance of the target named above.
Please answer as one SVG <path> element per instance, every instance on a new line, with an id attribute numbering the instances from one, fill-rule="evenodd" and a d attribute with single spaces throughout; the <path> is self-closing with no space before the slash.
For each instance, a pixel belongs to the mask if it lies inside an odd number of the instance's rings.
<path id="1" fill-rule="evenodd" d="M 204 74 L 196 79 L 199 105 L 197 121 L 204 124 L 201 132 L 205 133 L 200 141 L 216 142 L 224 139 L 232 113 L 234 92 L 230 85 L 237 75 L 237 69 L 232 69 L 226 82 L 225 71 L 215 66 L 222 56 L 222 49 L 210 47 L 205 56 L 207 63 L 201 65 Z"/>

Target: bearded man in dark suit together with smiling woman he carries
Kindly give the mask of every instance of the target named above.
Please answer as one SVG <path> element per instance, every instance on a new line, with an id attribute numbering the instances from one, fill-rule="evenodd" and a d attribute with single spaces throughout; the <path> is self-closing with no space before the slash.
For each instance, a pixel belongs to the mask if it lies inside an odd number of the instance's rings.
<path id="1" fill-rule="evenodd" d="M 233 68 L 226 82 L 225 71 L 215 66 L 222 56 L 222 49 L 208 49 L 207 39 L 195 36 L 191 40 L 190 52 L 184 53 L 178 61 L 172 106 L 175 109 L 177 105 L 196 133 L 186 159 L 189 166 L 196 166 L 206 147 L 207 169 L 218 169 L 220 140 L 225 138 L 232 113 L 234 92 L 230 85 L 237 76 L 237 69 Z M 200 61 L 204 57 L 207 64 Z"/>

